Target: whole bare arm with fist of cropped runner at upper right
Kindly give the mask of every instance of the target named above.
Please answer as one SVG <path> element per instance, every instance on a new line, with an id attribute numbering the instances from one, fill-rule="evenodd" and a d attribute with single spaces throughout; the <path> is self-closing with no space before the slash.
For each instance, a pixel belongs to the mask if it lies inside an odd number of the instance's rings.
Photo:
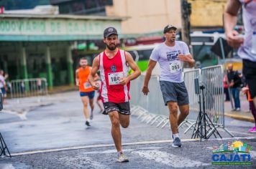
<path id="1" fill-rule="evenodd" d="M 234 26 L 237 24 L 237 14 L 241 6 L 238 0 L 229 0 L 224 11 L 224 29 L 227 43 L 235 48 L 240 47 L 244 42 L 242 37 L 237 37 L 238 32 L 234 30 Z"/>

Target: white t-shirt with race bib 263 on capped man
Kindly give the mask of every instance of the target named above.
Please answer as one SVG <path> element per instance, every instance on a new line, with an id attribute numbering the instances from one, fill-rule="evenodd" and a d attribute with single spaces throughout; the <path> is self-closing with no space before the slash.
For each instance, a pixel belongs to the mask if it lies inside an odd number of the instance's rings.
<path id="1" fill-rule="evenodd" d="M 168 82 L 183 82 L 183 62 L 178 59 L 179 54 L 188 55 L 188 45 L 185 42 L 175 41 L 173 47 L 168 47 L 165 42 L 153 49 L 150 59 L 158 62 L 161 73 L 160 80 Z"/>

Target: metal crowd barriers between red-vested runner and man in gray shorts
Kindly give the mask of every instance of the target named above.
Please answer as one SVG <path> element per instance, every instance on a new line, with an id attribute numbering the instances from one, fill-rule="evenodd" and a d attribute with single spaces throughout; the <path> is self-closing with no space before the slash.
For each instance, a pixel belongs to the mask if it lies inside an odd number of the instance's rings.
<path id="1" fill-rule="evenodd" d="M 168 107 L 164 106 L 159 79 L 157 76 L 151 77 L 150 92 L 147 96 L 142 94 L 144 79 L 145 76 L 142 75 L 131 82 L 132 115 L 137 116 L 142 122 L 163 128 L 165 125 L 169 125 L 169 112 Z"/>

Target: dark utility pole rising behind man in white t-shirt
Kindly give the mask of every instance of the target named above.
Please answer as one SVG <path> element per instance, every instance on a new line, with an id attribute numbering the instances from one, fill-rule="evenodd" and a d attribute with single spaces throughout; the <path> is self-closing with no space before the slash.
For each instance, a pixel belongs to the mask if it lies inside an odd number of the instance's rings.
<path id="1" fill-rule="evenodd" d="M 191 31 L 191 3 L 188 3 L 187 0 L 180 0 L 181 5 L 181 39 L 183 42 L 188 44 L 188 47 L 191 44 L 190 31 Z"/>

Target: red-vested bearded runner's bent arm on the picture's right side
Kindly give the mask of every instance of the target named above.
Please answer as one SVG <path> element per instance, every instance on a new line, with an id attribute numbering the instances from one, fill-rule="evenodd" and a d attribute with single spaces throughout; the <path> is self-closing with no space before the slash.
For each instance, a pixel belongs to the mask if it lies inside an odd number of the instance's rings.
<path id="1" fill-rule="evenodd" d="M 125 52 L 126 55 L 126 61 L 129 64 L 129 67 L 133 70 L 132 74 L 130 74 L 128 77 L 124 77 L 120 79 L 119 83 L 120 84 L 127 84 L 129 81 L 136 79 L 137 77 L 140 76 L 141 72 L 137 64 L 134 62 L 134 59 L 132 58 L 132 55 L 129 54 L 129 52 Z"/>

